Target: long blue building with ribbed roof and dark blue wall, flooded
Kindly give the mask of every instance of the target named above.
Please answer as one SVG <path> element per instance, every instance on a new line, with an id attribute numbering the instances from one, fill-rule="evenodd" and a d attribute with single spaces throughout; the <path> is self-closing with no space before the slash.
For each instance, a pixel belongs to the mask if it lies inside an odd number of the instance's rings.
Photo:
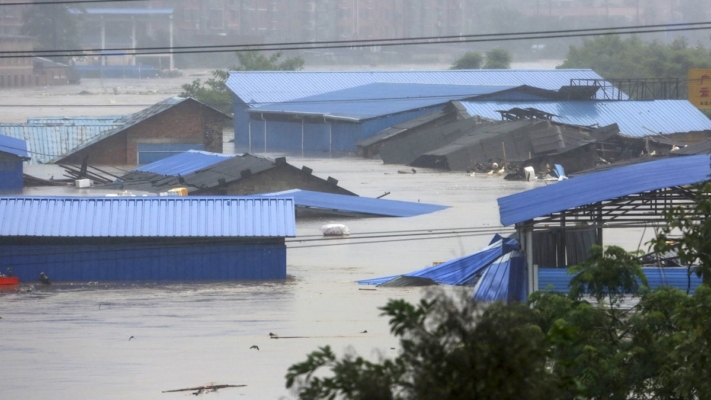
<path id="1" fill-rule="evenodd" d="M 0 197 L 0 271 L 23 282 L 286 278 L 294 203 L 258 197 Z"/>

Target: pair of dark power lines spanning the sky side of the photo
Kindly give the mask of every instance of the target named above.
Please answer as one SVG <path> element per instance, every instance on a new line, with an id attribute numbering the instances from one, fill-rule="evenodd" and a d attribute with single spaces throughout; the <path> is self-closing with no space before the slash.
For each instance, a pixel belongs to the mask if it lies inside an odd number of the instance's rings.
<path id="1" fill-rule="evenodd" d="M 649 29 L 653 28 L 653 29 Z M 368 46 L 412 46 L 412 45 L 437 45 L 448 43 L 483 43 L 518 40 L 558 39 L 569 37 L 610 36 L 620 34 L 641 34 L 657 32 L 697 31 L 711 29 L 711 22 L 695 22 L 662 25 L 640 25 L 630 27 L 610 27 L 595 29 L 569 29 L 560 31 L 533 31 L 516 33 L 498 33 L 483 35 L 462 36 L 431 36 L 417 39 L 367 39 L 335 42 L 291 42 L 274 44 L 240 44 L 240 45 L 215 45 L 215 46 L 173 46 L 173 47 L 136 47 L 136 48 L 110 48 L 110 49 L 68 49 L 68 50 L 38 50 L 0 52 L 0 58 L 28 58 L 28 57 L 87 57 L 111 56 L 105 51 L 131 51 L 131 55 L 165 55 L 165 54 L 206 54 L 227 53 L 234 51 L 286 51 L 286 50 L 319 50 L 339 49 Z M 10 55 L 12 54 L 12 55 Z M 122 54 L 125 55 L 125 54 Z"/>

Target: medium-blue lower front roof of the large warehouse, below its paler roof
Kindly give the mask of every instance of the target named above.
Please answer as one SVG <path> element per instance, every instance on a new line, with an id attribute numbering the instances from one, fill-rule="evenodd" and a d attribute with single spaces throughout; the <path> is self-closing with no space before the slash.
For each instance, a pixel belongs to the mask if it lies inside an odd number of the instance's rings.
<path id="1" fill-rule="evenodd" d="M 249 110 L 252 114 L 289 113 L 362 120 L 513 89 L 422 83 L 370 83 Z"/>

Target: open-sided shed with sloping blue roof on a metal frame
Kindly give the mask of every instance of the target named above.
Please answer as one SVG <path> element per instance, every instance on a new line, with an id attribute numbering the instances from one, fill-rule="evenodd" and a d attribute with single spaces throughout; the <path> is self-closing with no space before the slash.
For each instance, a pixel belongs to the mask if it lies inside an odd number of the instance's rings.
<path id="1" fill-rule="evenodd" d="M 537 267 L 572 264 L 569 247 L 573 244 L 567 242 L 570 233 L 590 232 L 592 242 L 602 245 L 605 228 L 664 223 L 664 211 L 691 204 L 694 193 L 688 185 L 709 179 L 709 173 L 708 155 L 674 157 L 586 174 L 499 198 L 501 224 L 515 225 L 523 242 L 529 293 L 543 287 Z M 551 236 L 552 259 L 536 252 L 535 243 L 537 237 Z M 547 264 L 542 264 L 546 259 Z"/>

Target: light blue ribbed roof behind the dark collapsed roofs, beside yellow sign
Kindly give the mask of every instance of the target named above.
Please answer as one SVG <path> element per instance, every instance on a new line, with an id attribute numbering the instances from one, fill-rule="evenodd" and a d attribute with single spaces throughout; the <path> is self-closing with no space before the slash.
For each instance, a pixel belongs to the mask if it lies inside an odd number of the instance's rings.
<path id="1" fill-rule="evenodd" d="M 654 101 L 463 101 L 469 115 L 501 119 L 497 110 L 532 107 L 555 114 L 554 121 L 572 125 L 606 126 L 616 123 L 626 136 L 644 137 L 711 130 L 709 120 L 686 100 Z"/>

